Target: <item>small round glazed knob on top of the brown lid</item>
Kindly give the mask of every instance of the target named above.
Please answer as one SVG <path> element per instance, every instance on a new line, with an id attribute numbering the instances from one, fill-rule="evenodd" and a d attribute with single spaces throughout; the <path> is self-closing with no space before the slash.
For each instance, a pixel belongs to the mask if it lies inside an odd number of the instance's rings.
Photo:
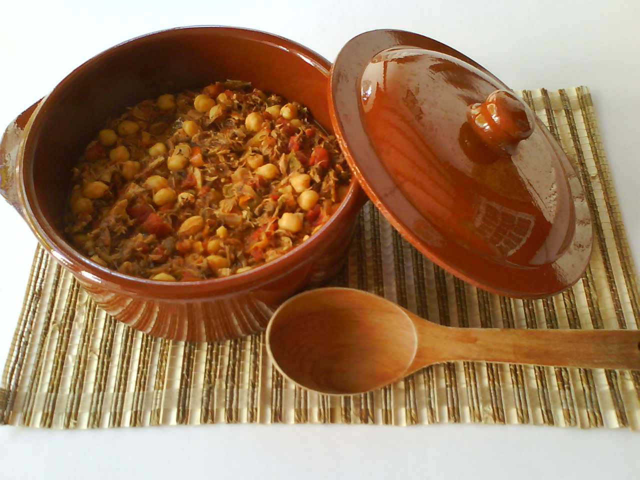
<path id="1" fill-rule="evenodd" d="M 515 154 L 520 140 L 531 136 L 534 114 L 507 90 L 495 90 L 482 103 L 472 104 L 467 120 L 484 145 L 500 156 Z"/>

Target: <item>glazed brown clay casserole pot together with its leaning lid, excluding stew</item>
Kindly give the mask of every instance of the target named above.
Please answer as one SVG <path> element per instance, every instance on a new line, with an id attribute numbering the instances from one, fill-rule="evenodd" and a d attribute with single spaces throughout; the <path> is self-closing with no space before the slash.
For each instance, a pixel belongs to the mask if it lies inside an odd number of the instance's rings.
<path id="1" fill-rule="evenodd" d="M 335 131 L 352 176 L 327 223 L 276 260 L 196 282 L 123 275 L 78 253 L 62 234 L 70 172 L 105 120 L 227 79 L 300 102 Z M 404 31 L 358 35 L 333 65 L 246 29 L 135 38 L 81 65 L 20 115 L 3 137 L 0 173 L 0 192 L 100 307 L 167 339 L 263 330 L 274 308 L 342 266 L 367 196 L 429 260 L 497 294 L 561 292 L 591 255 L 579 177 L 541 120 L 475 61 Z"/>

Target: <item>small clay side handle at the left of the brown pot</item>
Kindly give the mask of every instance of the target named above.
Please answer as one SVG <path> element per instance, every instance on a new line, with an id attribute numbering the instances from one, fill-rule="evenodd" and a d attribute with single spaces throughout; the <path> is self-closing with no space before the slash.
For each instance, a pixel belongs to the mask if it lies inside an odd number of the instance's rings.
<path id="1" fill-rule="evenodd" d="M 22 142 L 22 137 L 24 136 L 24 128 L 39 103 L 40 100 L 20 113 L 20 115 L 6 127 L 2 140 L 0 141 L 0 195 L 23 217 L 24 212 L 20 205 L 16 178 L 18 150 L 20 142 Z"/>

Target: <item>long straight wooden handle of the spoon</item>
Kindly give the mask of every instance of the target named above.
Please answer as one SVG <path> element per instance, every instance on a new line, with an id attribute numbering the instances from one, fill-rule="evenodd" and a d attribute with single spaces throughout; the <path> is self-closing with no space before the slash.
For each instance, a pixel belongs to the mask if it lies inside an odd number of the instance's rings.
<path id="1" fill-rule="evenodd" d="M 444 329 L 437 335 L 451 342 L 440 352 L 447 360 L 640 369 L 640 330 Z"/>

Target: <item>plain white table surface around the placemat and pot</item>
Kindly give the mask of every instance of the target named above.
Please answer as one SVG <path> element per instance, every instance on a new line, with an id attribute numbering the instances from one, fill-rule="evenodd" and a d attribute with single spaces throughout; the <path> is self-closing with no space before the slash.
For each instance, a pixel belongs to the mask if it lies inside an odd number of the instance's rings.
<path id="1" fill-rule="evenodd" d="M 95 5 L 95 6 L 94 6 Z M 464 52 L 512 88 L 584 84 L 596 108 L 631 250 L 640 262 L 640 2 L 637 0 L 221 2 L 1 0 L 0 125 L 77 65 L 173 26 L 262 29 L 333 60 L 349 38 L 406 29 Z M 630 95 L 621 95 L 630 92 Z M 61 122 L 65 119 L 61 118 Z M 35 239 L 0 200 L 0 364 Z M 15 478 L 637 478 L 640 433 L 534 426 L 214 425 L 48 431 L 0 427 Z"/>

